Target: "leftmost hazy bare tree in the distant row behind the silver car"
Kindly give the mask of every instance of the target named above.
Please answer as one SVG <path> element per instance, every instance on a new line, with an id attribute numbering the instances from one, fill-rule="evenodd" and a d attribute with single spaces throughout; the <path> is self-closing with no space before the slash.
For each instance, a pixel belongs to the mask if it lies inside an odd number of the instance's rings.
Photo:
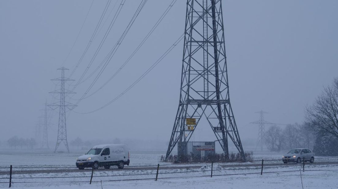
<path id="1" fill-rule="evenodd" d="M 281 128 L 277 125 L 272 125 L 265 132 L 265 144 L 269 150 L 278 151 L 281 148 Z"/>

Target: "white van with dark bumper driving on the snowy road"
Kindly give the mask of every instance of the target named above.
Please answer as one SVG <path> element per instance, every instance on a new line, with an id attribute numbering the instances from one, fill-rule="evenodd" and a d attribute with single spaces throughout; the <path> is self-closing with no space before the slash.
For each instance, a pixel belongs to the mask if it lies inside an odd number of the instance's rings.
<path id="1" fill-rule="evenodd" d="M 110 166 L 118 166 L 121 169 L 124 165 L 129 165 L 129 162 L 127 145 L 103 144 L 94 146 L 86 154 L 76 158 L 76 167 L 79 169 L 85 167 L 109 169 Z"/>

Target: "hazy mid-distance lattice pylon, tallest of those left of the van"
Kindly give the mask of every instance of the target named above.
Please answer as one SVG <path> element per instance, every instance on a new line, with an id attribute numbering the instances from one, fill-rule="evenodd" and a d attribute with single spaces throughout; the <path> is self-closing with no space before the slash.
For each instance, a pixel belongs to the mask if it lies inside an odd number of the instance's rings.
<path id="1" fill-rule="evenodd" d="M 58 124 L 58 131 L 57 131 L 57 141 L 56 141 L 56 146 L 54 153 L 56 152 L 56 149 L 59 147 L 60 143 L 64 143 L 67 151 L 69 153 L 69 147 L 68 147 L 68 142 L 67 142 L 67 130 L 66 130 L 66 108 L 70 109 L 70 107 L 74 107 L 76 105 L 65 102 L 65 94 L 68 93 L 75 93 L 70 90 L 65 89 L 65 82 L 66 81 L 74 81 L 73 79 L 69 79 L 65 77 L 65 70 L 69 70 L 67 68 L 59 68 L 57 70 L 61 70 L 61 77 L 56 78 L 56 79 L 51 79 L 52 81 L 60 81 L 61 82 L 61 88 L 59 90 L 54 90 L 49 93 L 59 93 L 60 94 L 60 101 L 48 105 L 51 107 L 53 110 L 59 107 L 59 124 Z"/>

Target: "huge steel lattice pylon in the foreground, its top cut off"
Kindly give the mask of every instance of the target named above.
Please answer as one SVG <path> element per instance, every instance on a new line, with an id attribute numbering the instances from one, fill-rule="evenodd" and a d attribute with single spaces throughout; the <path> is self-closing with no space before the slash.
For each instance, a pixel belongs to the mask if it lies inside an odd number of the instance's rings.
<path id="1" fill-rule="evenodd" d="M 226 157 L 230 138 L 245 160 L 230 104 L 221 0 L 187 0 L 179 105 L 166 159 L 177 143 L 189 141 L 201 117 Z"/>

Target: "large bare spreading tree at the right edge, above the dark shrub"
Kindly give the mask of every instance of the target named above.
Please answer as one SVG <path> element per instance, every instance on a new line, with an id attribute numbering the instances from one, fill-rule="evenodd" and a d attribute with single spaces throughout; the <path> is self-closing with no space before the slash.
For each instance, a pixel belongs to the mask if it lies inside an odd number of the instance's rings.
<path id="1" fill-rule="evenodd" d="M 317 133 L 331 134 L 338 138 L 338 78 L 325 87 L 312 106 L 305 110 L 309 126 Z"/>

